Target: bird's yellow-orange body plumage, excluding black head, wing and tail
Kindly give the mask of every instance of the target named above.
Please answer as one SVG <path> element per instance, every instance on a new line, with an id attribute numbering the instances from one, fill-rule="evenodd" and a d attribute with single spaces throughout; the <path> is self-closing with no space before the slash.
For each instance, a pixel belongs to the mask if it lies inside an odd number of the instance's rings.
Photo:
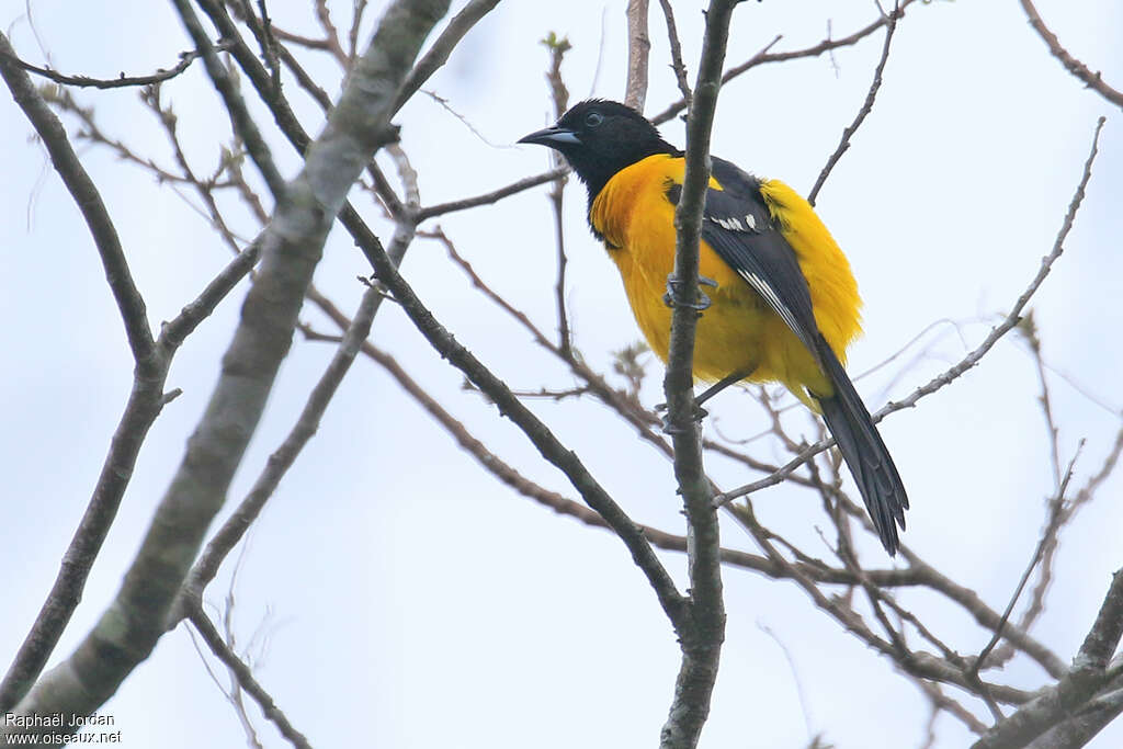
<path id="1" fill-rule="evenodd" d="M 660 189 L 650 189 L 652 180 Z M 620 271 L 636 321 L 664 362 L 670 308 L 663 296 L 675 261 L 675 207 L 663 188 L 668 181 L 682 182 L 682 161 L 650 156 L 613 176 L 590 212 Z M 713 181 L 711 186 L 720 189 Z M 846 346 L 860 330 L 860 302 L 849 263 L 811 207 L 787 185 L 766 182 L 761 192 L 809 281 L 820 330 L 844 362 Z M 795 334 L 705 241 L 700 247 L 699 272 L 718 287 L 702 289 L 712 303 L 699 319 L 695 377 L 715 381 L 752 369 L 748 381 L 782 382 L 804 401 L 803 387 L 824 396 L 832 394 L 827 377 Z"/>

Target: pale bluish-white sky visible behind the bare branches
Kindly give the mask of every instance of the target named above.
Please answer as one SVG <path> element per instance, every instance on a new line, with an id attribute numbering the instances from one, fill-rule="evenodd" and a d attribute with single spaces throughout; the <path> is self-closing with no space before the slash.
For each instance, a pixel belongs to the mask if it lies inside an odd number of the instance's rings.
<path id="1" fill-rule="evenodd" d="M 873 2 L 792 4 L 742 3 L 729 64 L 778 35 L 775 51 L 803 48 L 828 29 L 849 34 L 877 12 Z M 331 4 L 341 27 L 349 6 Z M 426 95 L 395 120 L 420 174 L 422 203 L 478 194 L 548 167 L 545 149 L 512 146 L 553 119 L 547 53 L 539 44 L 547 34 L 573 44 L 563 73 L 574 101 L 622 98 L 623 6 L 509 0 L 482 21 L 427 84 L 472 129 Z M 701 13 L 697 3 L 675 7 L 693 76 Z M 1123 22 L 1116 3 L 1040 0 L 1038 9 L 1070 52 L 1123 88 L 1123 53 L 1113 44 Z M 25 58 L 101 77 L 167 67 L 190 48 L 171 3 L 117 10 L 95 0 L 0 0 L 0 24 Z M 318 34 L 311 3 L 274 0 L 270 11 L 281 28 Z M 657 3 L 650 29 L 649 113 L 677 99 Z M 713 153 L 805 194 L 861 106 L 880 49 L 878 34 L 830 56 L 765 66 L 731 82 L 719 102 Z M 334 75 L 329 61 L 310 60 L 310 70 Z M 858 381 L 871 410 L 959 360 L 1006 313 L 1051 250 L 1096 119 L 1107 117 L 1066 253 L 1031 304 L 1050 366 L 1061 460 L 1076 458 L 1072 485 L 1080 486 L 1107 455 L 1123 409 L 1116 386 L 1123 314 L 1115 303 L 1123 289 L 1123 118 L 1048 54 L 1014 2 L 913 4 L 884 79 L 873 113 L 816 207 L 848 254 L 865 300 L 865 336 L 850 349 L 850 371 L 869 369 L 931 327 L 905 356 Z M 327 80 L 335 94 L 337 79 Z M 94 107 L 106 133 L 173 163 L 136 91 L 75 95 Z M 179 115 L 189 158 L 204 172 L 229 140 L 229 122 L 201 67 L 166 85 L 164 97 Z M 321 118 L 314 106 L 300 93 L 293 99 L 316 131 Z M 66 122 L 73 135 L 73 118 Z M 89 501 L 128 395 L 131 359 L 89 234 L 7 93 L 0 95 L 0 133 L 8 144 L 0 180 L 0 316 L 8 321 L 0 329 L 7 426 L 0 430 L 0 568 L 7 570 L 0 577 L 0 652 L 12 654 Z M 663 133 L 684 143 L 681 122 Z M 268 136 L 282 172 L 295 174 L 291 148 L 276 133 Z M 174 317 L 228 261 L 228 250 L 192 209 L 191 197 L 104 148 L 77 147 L 117 222 L 152 322 Z M 389 236 L 368 195 L 351 197 Z M 605 371 L 612 351 L 639 334 L 614 268 L 586 230 L 584 202 L 572 183 L 567 309 L 585 358 Z M 232 210 L 235 230 L 253 236 L 248 216 Z M 423 228 L 437 226 L 492 287 L 541 329 L 555 330 L 555 245 L 545 188 Z M 367 272 L 336 230 L 316 283 L 350 311 L 363 291 L 355 277 Z M 440 245 L 418 240 L 403 273 L 457 339 L 513 387 L 573 386 L 522 328 L 472 289 Z M 52 663 L 73 650 L 116 593 L 206 404 L 245 287 L 177 355 L 168 385 L 183 395 L 150 432 Z M 331 330 L 314 310 L 302 319 Z M 384 305 L 372 339 L 504 460 L 576 496 L 510 422 L 463 389 L 462 376 L 400 310 Z M 332 351 L 298 336 L 227 511 L 284 439 Z M 661 367 L 646 362 L 641 399 L 654 405 L 661 400 Z M 882 426 L 912 500 L 905 542 L 999 610 L 1033 551 L 1052 491 L 1039 394 L 1025 345 L 1011 335 L 952 385 Z M 587 400 L 530 405 L 633 519 L 682 532 L 670 465 L 633 430 Z M 709 410 L 707 436 L 745 439 L 768 427 L 740 392 L 721 395 Z M 786 418 L 794 432 L 815 433 L 798 412 Z M 766 459 L 784 457 L 783 447 L 768 440 L 752 449 Z M 718 459 L 707 468 L 725 487 L 759 477 Z M 1061 539 L 1049 609 L 1033 633 L 1065 660 L 1079 647 L 1111 573 L 1123 566 L 1114 542 L 1123 527 L 1120 490 L 1120 478 L 1110 478 Z M 755 502 L 764 521 L 829 554 L 815 536 L 818 502 L 788 486 Z M 757 550 L 732 523 L 723 524 L 723 542 Z M 878 559 L 875 541 L 864 550 Z M 685 587 L 685 559 L 661 557 Z M 239 647 L 250 646 L 259 681 L 313 746 L 649 747 L 666 719 L 678 648 L 623 545 L 500 484 L 372 362 L 356 362 L 319 433 L 250 533 L 231 582 L 232 563 L 209 588 L 208 602 L 216 611 L 228 592 L 234 596 Z M 727 570 L 724 584 L 727 642 L 702 746 L 797 748 L 818 733 L 840 749 L 923 743 L 923 695 L 794 585 L 736 569 Z M 985 645 L 985 632 L 934 596 L 901 597 L 961 652 Z M 1035 688 L 1046 675 L 1015 664 L 996 678 Z M 115 718 L 126 747 L 245 746 L 184 627 L 161 640 L 103 712 Z M 266 746 L 284 745 L 254 716 Z M 969 743 L 953 720 L 941 719 L 935 730 L 937 747 Z M 1115 725 L 1089 746 L 1121 745 L 1123 725 Z"/>

